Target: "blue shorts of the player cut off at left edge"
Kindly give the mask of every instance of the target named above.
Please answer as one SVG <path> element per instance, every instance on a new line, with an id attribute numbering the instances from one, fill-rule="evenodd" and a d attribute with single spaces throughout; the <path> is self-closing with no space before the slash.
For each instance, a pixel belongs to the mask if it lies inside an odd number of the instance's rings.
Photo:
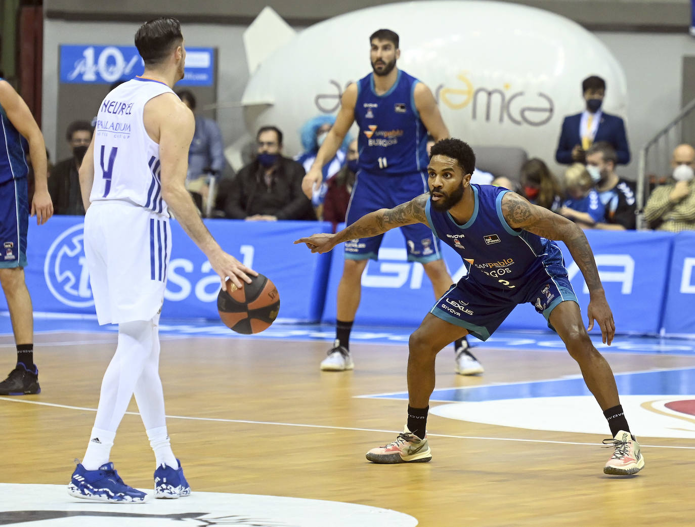
<path id="1" fill-rule="evenodd" d="M 26 177 L 0 183 L 0 268 L 26 267 L 26 231 L 29 227 Z"/>

